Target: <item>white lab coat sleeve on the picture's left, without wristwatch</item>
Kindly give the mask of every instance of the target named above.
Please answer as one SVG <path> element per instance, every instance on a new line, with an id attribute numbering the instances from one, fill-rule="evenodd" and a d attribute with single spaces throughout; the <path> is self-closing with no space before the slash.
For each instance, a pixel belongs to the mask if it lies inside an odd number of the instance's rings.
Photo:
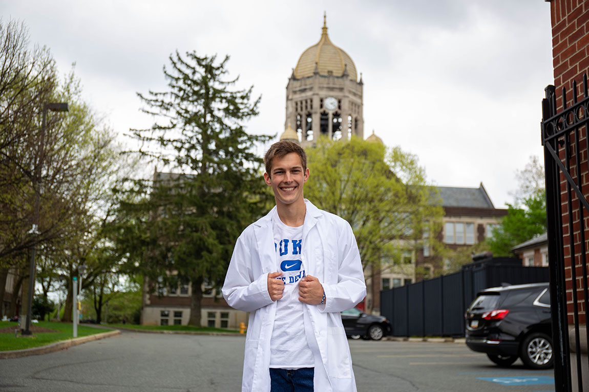
<path id="1" fill-rule="evenodd" d="M 264 273 L 254 279 L 252 263 L 257 255 L 253 253 L 242 234 L 233 249 L 221 289 L 227 304 L 237 310 L 253 311 L 272 303 L 268 293 L 268 274 Z"/>

